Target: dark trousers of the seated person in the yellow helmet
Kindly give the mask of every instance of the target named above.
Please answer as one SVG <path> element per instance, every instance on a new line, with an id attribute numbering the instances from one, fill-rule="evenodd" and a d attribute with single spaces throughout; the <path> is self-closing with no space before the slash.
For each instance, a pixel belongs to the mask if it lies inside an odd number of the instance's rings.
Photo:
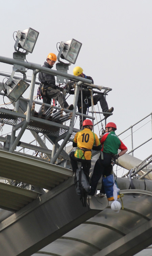
<path id="1" fill-rule="evenodd" d="M 81 108 L 81 102 L 78 102 L 77 107 L 78 107 L 78 112 L 79 113 L 83 113 L 83 114 L 86 115 L 87 108 L 91 107 L 91 96 L 87 98 L 87 104 L 85 104 L 84 99 L 83 99 L 83 111 L 82 111 L 82 108 Z M 106 112 L 108 110 L 108 103 L 107 103 L 103 94 L 94 95 L 93 96 L 93 101 L 94 101 L 94 105 L 97 105 L 98 101 L 100 102 L 102 112 Z M 85 119 L 86 119 L 86 117 L 83 117 L 83 121 Z M 80 116 L 80 129 L 82 128 L 83 121 L 82 121 L 82 117 Z"/>

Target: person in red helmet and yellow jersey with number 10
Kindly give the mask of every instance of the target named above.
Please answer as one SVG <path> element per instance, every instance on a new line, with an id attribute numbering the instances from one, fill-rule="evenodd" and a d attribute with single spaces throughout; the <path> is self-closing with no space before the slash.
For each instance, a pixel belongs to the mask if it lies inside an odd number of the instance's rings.
<path id="1" fill-rule="evenodd" d="M 74 140 L 73 147 L 77 147 L 77 150 L 70 153 L 71 165 L 73 172 L 78 169 L 78 163 L 81 162 L 82 169 L 86 175 L 89 176 L 91 168 L 91 150 L 101 150 L 101 144 L 97 134 L 92 132 L 93 122 L 89 119 L 83 121 L 83 130 L 77 132 Z"/>

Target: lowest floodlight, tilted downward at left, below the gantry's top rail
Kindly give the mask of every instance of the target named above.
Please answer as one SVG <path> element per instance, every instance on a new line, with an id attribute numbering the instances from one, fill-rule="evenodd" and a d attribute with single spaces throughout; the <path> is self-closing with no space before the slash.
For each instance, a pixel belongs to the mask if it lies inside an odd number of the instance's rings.
<path id="1" fill-rule="evenodd" d="M 15 102 L 29 87 L 29 84 L 22 79 L 12 79 L 11 84 L 7 85 L 7 97 Z"/>

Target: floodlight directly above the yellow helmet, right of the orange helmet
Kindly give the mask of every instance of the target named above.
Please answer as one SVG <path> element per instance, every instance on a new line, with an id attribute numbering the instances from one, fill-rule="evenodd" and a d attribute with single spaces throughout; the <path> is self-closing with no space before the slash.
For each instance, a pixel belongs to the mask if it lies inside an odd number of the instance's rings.
<path id="1" fill-rule="evenodd" d="M 59 48 L 63 48 L 62 53 L 60 55 L 61 59 L 65 59 L 72 64 L 76 63 L 77 57 L 79 55 L 79 51 L 81 49 L 82 43 L 75 39 L 71 39 L 67 42 L 61 42 Z"/>

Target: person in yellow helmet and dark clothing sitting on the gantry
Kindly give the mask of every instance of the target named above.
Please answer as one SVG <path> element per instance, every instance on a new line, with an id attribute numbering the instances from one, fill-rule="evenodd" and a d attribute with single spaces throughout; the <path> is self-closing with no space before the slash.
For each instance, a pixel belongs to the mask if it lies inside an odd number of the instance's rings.
<path id="1" fill-rule="evenodd" d="M 81 67 L 75 67 L 73 69 L 73 74 L 75 76 L 80 76 L 83 78 L 87 78 L 92 80 L 92 84 L 94 84 L 93 78 L 91 76 L 86 76 L 83 73 L 83 69 Z M 82 86 L 82 99 L 81 99 L 81 90 L 79 92 L 79 96 L 78 96 L 78 103 L 77 103 L 77 107 L 78 107 L 78 112 L 79 113 L 83 113 L 86 114 L 88 107 L 91 107 L 92 105 L 92 100 L 91 100 L 91 91 L 87 89 L 88 85 L 83 85 Z M 102 108 L 103 112 L 113 112 L 113 107 L 111 107 L 110 109 L 108 109 L 108 103 L 104 97 L 103 94 L 98 94 L 98 95 L 94 95 L 93 96 L 93 101 L 94 101 L 94 105 L 96 105 L 98 103 L 98 101 L 100 102 L 100 106 Z M 83 102 L 83 104 L 82 104 Z M 105 117 L 108 117 L 108 115 L 105 115 Z M 85 117 L 81 117 L 80 116 L 80 129 L 82 129 L 82 122 L 83 120 L 85 120 Z"/>

